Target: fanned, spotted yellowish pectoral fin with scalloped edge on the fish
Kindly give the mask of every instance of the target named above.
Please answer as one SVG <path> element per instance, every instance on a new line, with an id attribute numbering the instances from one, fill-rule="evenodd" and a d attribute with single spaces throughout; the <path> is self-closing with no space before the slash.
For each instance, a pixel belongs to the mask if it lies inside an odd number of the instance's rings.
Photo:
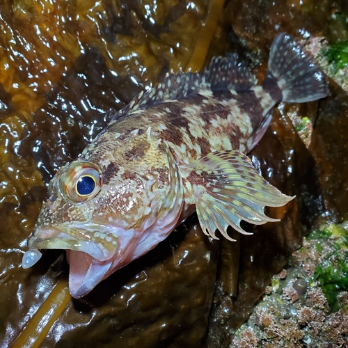
<path id="1" fill-rule="evenodd" d="M 278 221 L 264 214 L 264 207 L 280 207 L 294 197 L 286 196 L 255 171 L 251 160 L 239 151 L 219 151 L 184 168 L 185 200 L 196 205 L 200 226 L 206 235 L 218 239 L 215 231 L 229 240 L 228 226 L 248 235 L 242 220 L 255 225 Z"/>

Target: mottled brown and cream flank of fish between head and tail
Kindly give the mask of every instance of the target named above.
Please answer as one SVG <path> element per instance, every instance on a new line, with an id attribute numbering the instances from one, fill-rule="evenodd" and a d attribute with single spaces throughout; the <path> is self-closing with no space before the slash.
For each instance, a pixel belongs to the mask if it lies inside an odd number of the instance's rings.
<path id="1" fill-rule="evenodd" d="M 109 125 L 106 132 L 123 139 L 128 132 L 139 129 L 142 134 L 150 127 L 168 143 L 177 159 L 189 164 L 209 152 L 248 152 L 248 140 L 278 101 L 259 86 L 242 93 L 202 91 L 187 100 L 135 111 Z"/>

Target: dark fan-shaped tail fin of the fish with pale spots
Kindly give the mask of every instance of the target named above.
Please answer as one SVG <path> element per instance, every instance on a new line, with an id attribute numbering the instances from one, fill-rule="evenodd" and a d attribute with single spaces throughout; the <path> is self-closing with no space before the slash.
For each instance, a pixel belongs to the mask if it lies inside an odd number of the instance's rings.
<path id="1" fill-rule="evenodd" d="M 278 34 L 271 45 L 268 70 L 277 79 L 284 102 L 311 102 L 329 94 L 324 74 L 286 33 Z"/>

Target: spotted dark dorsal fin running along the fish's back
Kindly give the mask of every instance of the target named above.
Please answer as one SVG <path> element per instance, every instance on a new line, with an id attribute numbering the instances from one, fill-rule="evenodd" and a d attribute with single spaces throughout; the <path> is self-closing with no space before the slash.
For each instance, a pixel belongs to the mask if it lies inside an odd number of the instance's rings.
<path id="1" fill-rule="evenodd" d="M 198 95 L 200 91 L 248 90 L 253 85 L 255 85 L 255 77 L 245 65 L 237 62 L 235 56 L 214 57 L 203 74 L 200 72 L 184 73 L 181 69 L 177 74 L 167 74 L 161 84 L 145 93 L 141 92 L 136 95 L 132 102 L 113 116 L 113 120 L 166 101 Z"/>

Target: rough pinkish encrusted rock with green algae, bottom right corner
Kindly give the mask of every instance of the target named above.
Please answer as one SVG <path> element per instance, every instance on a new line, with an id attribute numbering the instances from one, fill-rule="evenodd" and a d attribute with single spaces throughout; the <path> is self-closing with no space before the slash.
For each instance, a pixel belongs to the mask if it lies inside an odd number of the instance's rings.
<path id="1" fill-rule="evenodd" d="M 328 238 L 332 235 L 335 237 Z M 331 224 L 310 232 L 303 248 L 292 255 L 287 278 L 273 278 L 280 282 L 279 289 L 258 303 L 248 322 L 235 331 L 230 348 L 241 347 L 243 341 L 253 347 L 345 347 L 346 237 L 347 221 L 342 226 Z M 342 269 L 336 269 L 332 260 Z"/>

